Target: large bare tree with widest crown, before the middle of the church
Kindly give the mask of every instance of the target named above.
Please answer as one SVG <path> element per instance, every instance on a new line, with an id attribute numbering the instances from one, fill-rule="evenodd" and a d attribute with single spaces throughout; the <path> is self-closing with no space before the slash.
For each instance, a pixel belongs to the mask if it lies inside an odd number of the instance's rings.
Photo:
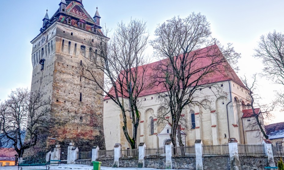
<path id="1" fill-rule="evenodd" d="M 155 36 L 151 41 L 154 54 L 164 60 L 154 68 L 153 79 L 154 84 L 162 86 L 162 91 L 165 91 L 160 93 L 161 103 L 171 116 L 169 120 L 165 115 L 160 115 L 158 122 L 168 121 L 171 124 L 170 138 L 176 146 L 182 110 L 189 104 L 202 105 L 196 99 L 200 89 L 222 91 L 220 84 L 214 84 L 216 81 L 210 76 L 223 74 L 226 69 L 232 70 L 228 63 L 235 66 L 240 54 L 234 51 L 231 44 L 226 49 L 216 45 L 219 42 L 211 38 L 210 24 L 200 13 L 167 20 L 158 25 Z M 182 142 L 179 143 L 182 145 Z"/>

